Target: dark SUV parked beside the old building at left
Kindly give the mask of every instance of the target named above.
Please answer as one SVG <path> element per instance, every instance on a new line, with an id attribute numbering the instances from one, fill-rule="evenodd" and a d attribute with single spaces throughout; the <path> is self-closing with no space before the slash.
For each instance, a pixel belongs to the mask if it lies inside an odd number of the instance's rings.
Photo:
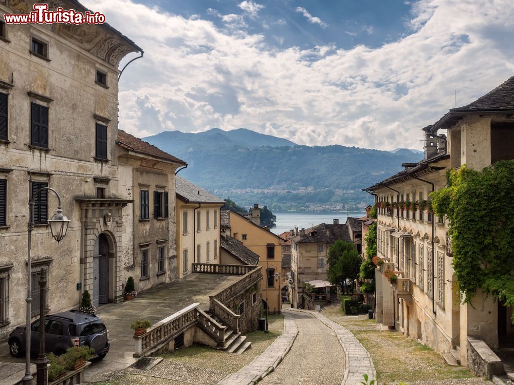
<path id="1" fill-rule="evenodd" d="M 39 319 L 30 326 L 30 350 L 39 351 Z M 21 357 L 25 352 L 25 327 L 18 326 L 9 334 L 9 352 Z M 45 317 L 45 349 L 47 353 L 63 354 L 71 347 L 86 345 L 104 358 L 109 351 L 109 331 L 97 316 L 70 311 Z"/>

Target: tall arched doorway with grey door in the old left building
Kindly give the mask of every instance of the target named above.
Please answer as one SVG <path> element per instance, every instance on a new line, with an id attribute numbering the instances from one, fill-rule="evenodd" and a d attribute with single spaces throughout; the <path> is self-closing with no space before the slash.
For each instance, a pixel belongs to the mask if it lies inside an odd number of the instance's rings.
<path id="1" fill-rule="evenodd" d="M 109 242 L 100 234 L 93 248 L 93 305 L 109 302 Z"/>

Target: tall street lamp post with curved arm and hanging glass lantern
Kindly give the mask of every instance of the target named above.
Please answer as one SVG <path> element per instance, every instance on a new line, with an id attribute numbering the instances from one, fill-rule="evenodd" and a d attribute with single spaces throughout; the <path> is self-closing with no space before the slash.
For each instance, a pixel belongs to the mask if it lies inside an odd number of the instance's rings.
<path id="1" fill-rule="evenodd" d="M 32 186 L 32 176 L 29 177 L 29 185 Z M 58 192 L 50 187 L 42 187 L 38 191 L 35 191 L 34 194 L 29 199 L 29 222 L 28 222 L 28 241 L 27 241 L 27 298 L 25 302 L 27 302 L 27 320 L 25 325 L 25 376 L 23 376 L 22 381 L 23 385 L 32 385 L 32 374 L 30 373 L 30 315 L 31 315 L 31 264 L 30 264 L 30 246 L 32 244 L 32 230 L 34 229 L 34 199 L 38 194 L 43 190 L 53 191 L 54 194 L 57 195 L 58 205 L 57 205 L 57 214 L 52 217 L 48 222 L 50 222 L 50 232 L 52 233 L 52 237 L 59 243 L 66 236 L 66 230 L 68 229 L 69 220 L 62 214 L 62 206 L 61 206 L 61 197 Z M 46 285 L 46 283 L 45 283 Z M 41 304 L 40 304 L 41 306 Z M 44 304 L 43 304 L 44 306 Z M 40 335 L 41 329 L 44 328 L 44 322 L 40 324 Z M 44 337 L 44 330 L 43 330 Z M 44 341 L 44 338 L 43 338 Z M 41 341 L 40 341 L 40 349 L 41 349 Z M 44 343 L 43 343 L 44 349 Z M 44 354 L 44 352 L 43 352 Z M 41 355 L 41 351 L 40 351 Z M 40 364 L 42 366 L 43 363 Z M 46 369 L 46 362 L 44 363 Z M 38 368 L 40 371 L 40 368 Z M 39 377 L 39 376 L 38 376 Z"/>

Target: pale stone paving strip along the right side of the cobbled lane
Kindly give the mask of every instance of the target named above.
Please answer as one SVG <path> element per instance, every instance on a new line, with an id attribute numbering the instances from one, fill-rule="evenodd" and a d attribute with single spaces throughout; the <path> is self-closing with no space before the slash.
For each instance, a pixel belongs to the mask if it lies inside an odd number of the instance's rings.
<path id="1" fill-rule="evenodd" d="M 376 380 L 377 372 L 370 353 L 364 349 L 352 332 L 322 314 L 317 312 L 311 312 L 311 314 L 336 333 L 337 339 L 343 347 L 346 369 L 341 385 L 358 385 L 363 380 L 363 374 L 368 374 L 370 381 Z"/>

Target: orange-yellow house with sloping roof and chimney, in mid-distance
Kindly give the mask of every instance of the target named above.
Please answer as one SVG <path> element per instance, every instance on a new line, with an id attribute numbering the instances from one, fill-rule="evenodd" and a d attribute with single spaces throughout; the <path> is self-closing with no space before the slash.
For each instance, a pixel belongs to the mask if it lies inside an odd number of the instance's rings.
<path id="1" fill-rule="evenodd" d="M 255 205 L 253 220 L 245 218 L 241 214 L 231 210 L 222 211 L 222 232 L 237 241 L 253 253 L 259 255 L 259 266 L 263 266 L 262 300 L 268 303 L 270 312 L 279 312 L 282 309 L 282 298 L 280 287 L 285 282 L 275 278 L 281 277 L 282 272 L 282 244 L 284 239 L 273 234 L 269 229 L 261 227 L 256 222 L 256 211 L 259 206 Z M 267 298 L 267 300 L 266 300 Z"/>

